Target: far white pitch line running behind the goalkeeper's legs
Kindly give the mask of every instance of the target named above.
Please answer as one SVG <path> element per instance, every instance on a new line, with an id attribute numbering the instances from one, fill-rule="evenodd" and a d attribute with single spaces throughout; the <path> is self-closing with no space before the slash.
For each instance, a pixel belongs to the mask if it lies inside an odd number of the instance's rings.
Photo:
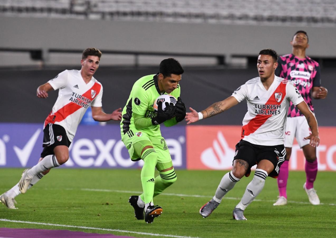
<path id="1" fill-rule="evenodd" d="M 110 190 L 110 189 L 81 189 L 82 191 L 95 191 L 95 192 L 110 192 L 110 193 L 131 193 L 131 194 L 141 194 L 139 191 L 124 191 L 124 190 Z M 193 198 L 212 198 L 211 196 L 204 195 L 189 195 L 189 194 L 176 194 L 176 193 L 162 193 L 161 195 L 166 196 L 177 196 L 177 197 L 193 197 Z M 231 200 L 241 200 L 241 198 L 232 198 L 232 197 L 223 197 L 223 199 L 231 199 Z M 261 200 L 254 199 L 256 202 L 275 202 L 276 200 Z M 310 204 L 309 202 L 297 202 L 297 201 L 288 201 L 288 203 L 298 203 L 298 204 Z M 329 205 L 336 206 L 336 204 L 330 203 L 320 203 L 320 205 Z"/>

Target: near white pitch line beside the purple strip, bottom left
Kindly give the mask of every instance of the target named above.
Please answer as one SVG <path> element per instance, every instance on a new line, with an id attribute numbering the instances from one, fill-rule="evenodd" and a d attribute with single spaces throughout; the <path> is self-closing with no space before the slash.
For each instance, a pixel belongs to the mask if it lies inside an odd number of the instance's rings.
<path id="1" fill-rule="evenodd" d="M 156 234 L 156 233 L 146 233 L 146 232 L 137 232 L 137 231 L 125 231 L 119 229 L 106 229 L 106 228 L 97 228 L 97 227 L 82 227 L 82 226 L 70 226 L 70 225 L 61 225 L 61 224 L 52 224 L 52 223 L 41 223 L 41 222 L 27 222 L 24 220 L 8 220 L 8 219 L 0 219 L 1 222 L 13 222 L 13 223 L 25 223 L 25 224 L 35 224 L 35 225 L 44 225 L 44 226 L 53 226 L 53 227 L 70 227 L 70 228 L 80 228 L 80 229 L 89 229 L 89 230 L 99 230 L 99 231 L 114 231 L 121 233 L 133 233 L 139 235 L 147 235 L 147 236 L 164 236 L 164 237 L 175 237 L 175 238 L 196 238 L 191 236 L 175 236 L 168 234 Z"/>

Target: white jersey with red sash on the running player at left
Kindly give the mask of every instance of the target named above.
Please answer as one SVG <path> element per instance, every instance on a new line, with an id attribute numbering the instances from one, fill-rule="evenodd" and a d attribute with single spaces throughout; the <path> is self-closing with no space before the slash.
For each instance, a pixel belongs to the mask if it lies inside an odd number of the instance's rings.
<path id="1" fill-rule="evenodd" d="M 59 90 L 58 98 L 44 122 L 44 127 L 48 123 L 60 125 L 64 127 L 69 140 L 72 141 L 87 108 L 102 106 L 101 83 L 92 77 L 86 84 L 80 70 L 65 70 L 48 83 L 54 90 Z"/>

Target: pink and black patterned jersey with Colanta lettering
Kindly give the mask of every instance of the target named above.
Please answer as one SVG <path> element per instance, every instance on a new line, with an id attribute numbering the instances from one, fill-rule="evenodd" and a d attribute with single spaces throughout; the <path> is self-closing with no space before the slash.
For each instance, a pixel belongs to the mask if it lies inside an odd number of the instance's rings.
<path id="1" fill-rule="evenodd" d="M 321 86 L 320 65 L 308 56 L 300 59 L 293 54 L 280 56 L 278 68 L 275 74 L 290 81 L 301 93 L 304 101 L 313 112 L 314 107 L 311 102 L 312 87 Z M 303 114 L 290 103 L 288 117 L 302 116 Z"/>

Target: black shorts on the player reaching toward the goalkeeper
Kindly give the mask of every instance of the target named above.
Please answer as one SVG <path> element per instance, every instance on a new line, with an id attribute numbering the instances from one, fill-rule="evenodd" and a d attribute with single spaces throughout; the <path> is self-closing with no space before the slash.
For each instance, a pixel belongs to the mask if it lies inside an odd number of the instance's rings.
<path id="1" fill-rule="evenodd" d="M 236 144 L 234 161 L 237 159 L 244 160 L 249 164 L 248 172 L 259 161 L 268 160 L 274 165 L 274 170 L 268 176 L 277 178 L 280 166 L 286 159 L 286 149 L 283 144 L 273 146 L 255 145 L 248 141 L 240 140 Z"/>

